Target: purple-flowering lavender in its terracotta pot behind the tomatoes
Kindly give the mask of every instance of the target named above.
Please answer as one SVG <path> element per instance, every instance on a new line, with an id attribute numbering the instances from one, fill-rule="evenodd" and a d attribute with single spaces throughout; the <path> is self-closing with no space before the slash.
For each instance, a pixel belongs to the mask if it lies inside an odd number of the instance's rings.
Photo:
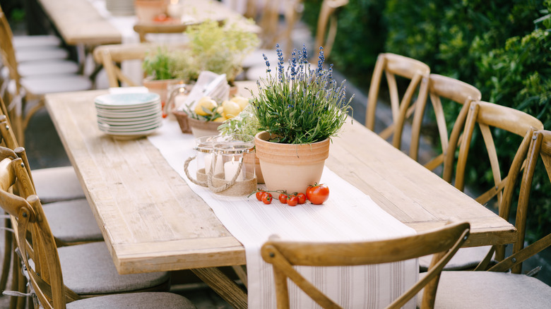
<path id="1" fill-rule="evenodd" d="M 310 67 L 306 47 L 292 52 L 287 69 L 279 46 L 277 51 L 276 74 L 270 74 L 264 56 L 266 79 L 261 78 L 258 95 L 251 99 L 263 130 L 255 136 L 256 156 L 268 190 L 304 192 L 319 182 L 330 138 L 345 123 L 353 96 L 347 101 L 344 82 L 333 80 L 333 66 L 324 68 L 322 47 L 317 68 Z"/>

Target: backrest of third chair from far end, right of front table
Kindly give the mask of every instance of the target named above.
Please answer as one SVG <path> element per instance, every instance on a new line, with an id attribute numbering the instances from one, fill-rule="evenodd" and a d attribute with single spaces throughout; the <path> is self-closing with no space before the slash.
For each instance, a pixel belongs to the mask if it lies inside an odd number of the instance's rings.
<path id="1" fill-rule="evenodd" d="M 485 143 L 494 180 L 492 187 L 485 193 L 482 193 L 476 200 L 485 205 L 493 198 L 497 198 L 499 216 L 509 220 L 513 193 L 524 164 L 523 162 L 526 160 L 532 134 L 534 131 L 543 130 L 543 124 L 535 117 L 523 111 L 511 109 L 510 107 L 482 101 L 470 104 L 463 131 L 463 142 L 461 143 L 457 159 L 455 186 L 459 190 L 463 190 L 465 186 L 468 154 L 476 123 L 478 123 L 482 139 Z M 499 160 L 492 130 L 503 131 L 500 132 L 502 135 L 503 133 L 509 133 L 511 136 L 518 135 L 522 139 L 516 150 L 514 159 L 504 175 L 502 175 L 501 171 L 501 168 L 504 166 L 500 166 L 500 164 L 504 164 L 504 160 L 501 160 L 501 162 Z M 517 229 L 519 229 L 519 226 L 517 226 Z M 504 246 L 496 246 L 495 250 L 497 260 L 502 260 L 504 257 Z"/>

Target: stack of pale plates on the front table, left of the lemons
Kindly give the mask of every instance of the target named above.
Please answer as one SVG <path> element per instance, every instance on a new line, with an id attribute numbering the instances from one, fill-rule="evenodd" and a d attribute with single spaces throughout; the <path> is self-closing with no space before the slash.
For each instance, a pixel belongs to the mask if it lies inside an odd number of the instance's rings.
<path id="1" fill-rule="evenodd" d="M 100 95 L 94 103 L 97 125 L 114 138 L 140 138 L 162 125 L 160 97 L 156 93 Z"/>

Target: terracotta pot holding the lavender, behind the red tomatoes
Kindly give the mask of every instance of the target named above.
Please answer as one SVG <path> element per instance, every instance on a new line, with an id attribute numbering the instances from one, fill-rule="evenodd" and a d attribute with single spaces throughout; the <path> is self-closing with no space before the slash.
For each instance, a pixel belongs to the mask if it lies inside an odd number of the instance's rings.
<path id="1" fill-rule="evenodd" d="M 329 157 L 329 139 L 312 144 L 280 144 L 268 142 L 270 137 L 263 131 L 254 140 L 268 190 L 304 193 L 309 185 L 319 183 Z"/>

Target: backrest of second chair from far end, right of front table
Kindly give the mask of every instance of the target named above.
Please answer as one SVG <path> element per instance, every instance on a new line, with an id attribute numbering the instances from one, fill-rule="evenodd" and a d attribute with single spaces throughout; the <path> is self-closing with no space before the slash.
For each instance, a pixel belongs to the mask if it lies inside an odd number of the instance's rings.
<path id="1" fill-rule="evenodd" d="M 442 153 L 427 162 L 425 167 L 433 171 L 444 164 L 442 178 L 451 182 L 455 153 L 458 144 L 461 143 L 461 133 L 465 125 L 468 108 L 471 102 L 482 99 L 482 94 L 476 87 L 463 83 L 461 80 L 431 73 L 429 75 L 429 97 L 437 122 Z M 442 99 L 461 104 L 461 111 L 459 111 L 449 135 Z M 410 157 L 416 161 L 418 159 L 420 131 L 425 116 L 425 107 L 426 104 L 417 104 L 413 116 Z"/>

